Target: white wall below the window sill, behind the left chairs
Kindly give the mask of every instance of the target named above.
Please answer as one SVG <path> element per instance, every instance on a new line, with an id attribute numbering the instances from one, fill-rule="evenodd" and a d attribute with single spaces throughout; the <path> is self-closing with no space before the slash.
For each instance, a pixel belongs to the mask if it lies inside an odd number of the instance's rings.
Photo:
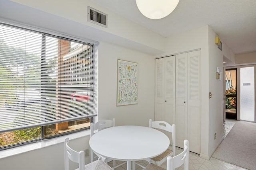
<path id="1" fill-rule="evenodd" d="M 74 134 L 68 135 L 70 139 L 72 139 L 72 136 Z M 89 149 L 89 139 L 90 133 L 86 136 L 72 139 L 70 140 L 70 147 L 75 150 Z M 0 158 L 0 170 L 64 170 L 64 137 L 58 137 L 57 140 L 63 142 L 44 147 L 46 143 L 50 142 L 42 141 L 20 147 L 20 150 L 22 150 L 24 147 L 38 148 L 36 146 L 42 145 L 42 148 L 39 147 L 39 149 Z M 8 150 L 4 152 L 8 152 Z M 15 152 L 15 150 L 10 149 L 9 152 Z M 19 152 L 18 148 L 17 152 Z M 86 164 L 90 162 L 90 156 L 86 157 L 85 162 Z M 78 168 L 78 164 L 70 161 L 70 169 L 76 168 Z"/>

